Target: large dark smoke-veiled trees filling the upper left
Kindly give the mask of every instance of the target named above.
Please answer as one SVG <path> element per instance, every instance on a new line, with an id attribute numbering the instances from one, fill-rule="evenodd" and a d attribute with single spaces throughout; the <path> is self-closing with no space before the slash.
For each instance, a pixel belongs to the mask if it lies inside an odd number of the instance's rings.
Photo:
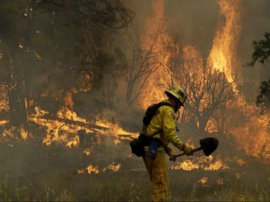
<path id="1" fill-rule="evenodd" d="M 0 7 L 0 82 L 8 100 L 2 106 L 8 103 L 4 118 L 14 133 L 28 130 L 35 107 L 51 114 L 63 105 L 72 109 L 73 94 L 97 87 L 104 79 L 98 73 L 108 67 L 101 58 L 117 58 L 106 46 L 113 41 L 109 32 L 117 35 L 134 18 L 117 0 L 1 1 Z"/>

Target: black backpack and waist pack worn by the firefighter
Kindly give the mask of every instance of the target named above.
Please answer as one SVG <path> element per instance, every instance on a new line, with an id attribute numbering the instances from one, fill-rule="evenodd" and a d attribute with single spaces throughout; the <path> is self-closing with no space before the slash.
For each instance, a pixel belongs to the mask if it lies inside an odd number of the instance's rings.
<path id="1" fill-rule="evenodd" d="M 150 105 L 146 109 L 146 114 L 144 114 L 143 116 L 143 125 L 145 128 L 146 126 L 149 125 L 150 121 L 153 119 L 153 116 L 155 116 L 155 113 L 158 112 L 158 108 L 164 105 L 172 106 L 168 102 L 159 102 L 157 104 Z M 160 133 L 160 130 L 154 133 L 153 135 L 156 135 L 158 133 Z M 146 135 L 140 134 L 138 138 L 129 142 L 129 145 L 131 147 L 131 152 L 133 154 L 136 154 L 136 156 L 143 156 L 143 154 L 145 153 L 144 146 L 149 145 L 151 143 L 151 138 L 152 137 L 146 137 Z"/>

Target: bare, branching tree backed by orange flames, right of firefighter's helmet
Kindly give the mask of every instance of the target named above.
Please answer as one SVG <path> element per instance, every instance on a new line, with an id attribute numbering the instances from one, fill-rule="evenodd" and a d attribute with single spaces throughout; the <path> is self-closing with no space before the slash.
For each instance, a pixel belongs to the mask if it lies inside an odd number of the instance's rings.
<path id="1" fill-rule="evenodd" d="M 195 125 L 198 132 L 224 132 L 225 109 L 236 97 L 233 82 L 224 72 L 214 69 L 211 60 L 204 60 L 192 46 L 182 46 L 176 37 L 165 40 L 167 60 L 163 62 L 168 75 L 163 84 L 181 85 L 188 93 L 188 102 L 181 122 Z"/>

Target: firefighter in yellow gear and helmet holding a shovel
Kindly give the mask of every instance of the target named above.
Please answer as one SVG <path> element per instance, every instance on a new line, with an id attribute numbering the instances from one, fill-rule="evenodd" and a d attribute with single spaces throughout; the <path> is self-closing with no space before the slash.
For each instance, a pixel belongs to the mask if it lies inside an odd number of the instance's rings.
<path id="1" fill-rule="evenodd" d="M 176 154 L 174 153 L 174 149 L 169 146 L 169 143 L 173 144 L 180 151 L 183 151 L 187 156 L 193 154 L 192 148 L 186 146 L 178 135 L 176 135 L 176 112 L 178 112 L 181 106 L 184 106 L 186 93 L 180 86 L 174 86 L 170 90 L 165 90 L 165 94 L 168 97 L 168 100 L 165 100 L 165 102 L 169 103 L 170 106 L 163 105 L 159 107 L 155 116 L 153 116 L 144 130 L 146 136 L 152 136 L 151 134 L 156 133 L 152 137 L 162 142 L 157 149 L 154 159 L 148 155 L 148 146 L 145 147 L 146 154 L 143 155 L 143 162 L 146 165 L 153 186 L 151 194 L 152 201 L 170 200 L 165 154 L 167 153 L 170 156 L 171 161 L 175 160 L 174 156 Z M 158 131 L 161 132 L 157 133 Z"/>

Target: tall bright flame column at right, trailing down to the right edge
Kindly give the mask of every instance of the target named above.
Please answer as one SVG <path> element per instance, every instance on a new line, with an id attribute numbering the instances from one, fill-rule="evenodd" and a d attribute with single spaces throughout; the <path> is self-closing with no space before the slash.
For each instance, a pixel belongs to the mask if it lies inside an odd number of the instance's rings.
<path id="1" fill-rule="evenodd" d="M 224 72 L 226 79 L 232 82 L 236 66 L 236 45 L 240 34 L 240 2 L 219 0 L 218 3 L 225 23 L 223 27 L 217 29 L 208 59 L 214 68 Z M 239 95 L 235 83 L 233 89 L 238 94 L 236 108 L 243 112 L 247 121 L 230 132 L 235 135 L 240 148 L 245 149 L 247 154 L 262 157 L 263 161 L 270 161 L 270 137 L 267 126 L 270 114 L 259 116 L 257 114 L 259 109 L 245 102 L 245 99 Z M 238 117 L 238 119 L 243 118 Z"/>

